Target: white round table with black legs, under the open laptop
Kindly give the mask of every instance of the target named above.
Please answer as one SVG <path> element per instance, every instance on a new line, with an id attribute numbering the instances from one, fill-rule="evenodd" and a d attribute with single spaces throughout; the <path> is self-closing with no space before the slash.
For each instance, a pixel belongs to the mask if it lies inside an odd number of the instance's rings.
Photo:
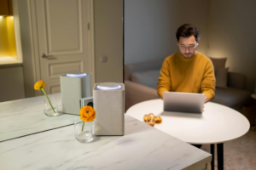
<path id="1" fill-rule="evenodd" d="M 189 144 L 211 144 L 211 152 L 214 144 L 218 144 L 219 169 L 224 167 L 223 143 L 241 137 L 250 127 L 247 118 L 238 111 L 212 102 L 205 104 L 201 114 L 163 111 L 162 99 L 144 101 L 126 111 L 127 115 L 142 122 L 143 116 L 149 113 L 160 116 L 163 120 L 160 125 L 154 125 L 155 128 L 177 139 Z M 212 159 L 214 160 L 214 152 Z"/>

